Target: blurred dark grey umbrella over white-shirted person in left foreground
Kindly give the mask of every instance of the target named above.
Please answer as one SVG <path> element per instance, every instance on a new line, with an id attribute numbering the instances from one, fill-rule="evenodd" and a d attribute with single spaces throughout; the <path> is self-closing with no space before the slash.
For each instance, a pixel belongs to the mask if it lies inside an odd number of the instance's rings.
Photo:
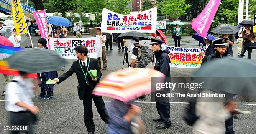
<path id="1" fill-rule="evenodd" d="M 59 53 L 47 49 L 28 48 L 7 58 L 9 67 L 27 73 L 57 71 L 65 63 Z"/>

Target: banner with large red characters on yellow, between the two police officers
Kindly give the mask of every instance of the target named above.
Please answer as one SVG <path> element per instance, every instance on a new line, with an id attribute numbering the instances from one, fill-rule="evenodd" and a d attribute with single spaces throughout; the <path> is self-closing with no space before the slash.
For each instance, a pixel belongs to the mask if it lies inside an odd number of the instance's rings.
<path id="1" fill-rule="evenodd" d="M 179 48 L 167 46 L 170 50 L 169 58 L 171 67 L 174 68 L 200 68 L 202 56 L 199 55 L 201 48 Z"/>

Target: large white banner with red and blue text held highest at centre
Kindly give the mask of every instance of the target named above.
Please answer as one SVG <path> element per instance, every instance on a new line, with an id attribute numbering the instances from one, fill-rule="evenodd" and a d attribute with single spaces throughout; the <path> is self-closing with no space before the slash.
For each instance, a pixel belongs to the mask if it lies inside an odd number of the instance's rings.
<path id="1" fill-rule="evenodd" d="M 101 32 L 125 33 L 137 31 L 141 33 L 155 33 L 157 25 L 156 18 L 156 7 L 129 15 L 118 14 L 103 8 Z"/>

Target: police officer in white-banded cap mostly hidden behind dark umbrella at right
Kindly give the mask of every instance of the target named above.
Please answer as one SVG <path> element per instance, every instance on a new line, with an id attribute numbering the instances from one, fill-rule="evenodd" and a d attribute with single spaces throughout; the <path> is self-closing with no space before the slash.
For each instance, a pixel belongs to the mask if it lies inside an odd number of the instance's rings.
<path id="1" fill-rule="evenodd" d="M 207 56 L 206 58 L 207 63 L 215 58 L 223 58 L 226 56 L 231 56 L 230 54 L 228 54 L 228 51 L 227 51 L 227 47 L 229 44 L 228 38 L 218 38 L 216 40 L 213 40 L 212 44 L 214 45 L 216 53 Z M 226 127 L 225 134 L 235 134 L 235 131 L 233 130 L 233 126 L 234 124 L 233 124 L 233 115 L 232 115 L 229 119 L 225 121 L 225 127 Z"/>

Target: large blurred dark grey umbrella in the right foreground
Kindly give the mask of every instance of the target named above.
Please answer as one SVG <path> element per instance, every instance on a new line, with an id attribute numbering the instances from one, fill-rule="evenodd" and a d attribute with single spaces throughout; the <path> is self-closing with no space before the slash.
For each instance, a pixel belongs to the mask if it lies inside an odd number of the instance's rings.
<path id="1" fill-rule="evenodd" d="M 206 89 L 243 96 L 256 93 L 255 68 L 256 63 L 251 60 L 230 57 L 205 64 L 193 76 L 204 81 L 203 87 Z"/>

